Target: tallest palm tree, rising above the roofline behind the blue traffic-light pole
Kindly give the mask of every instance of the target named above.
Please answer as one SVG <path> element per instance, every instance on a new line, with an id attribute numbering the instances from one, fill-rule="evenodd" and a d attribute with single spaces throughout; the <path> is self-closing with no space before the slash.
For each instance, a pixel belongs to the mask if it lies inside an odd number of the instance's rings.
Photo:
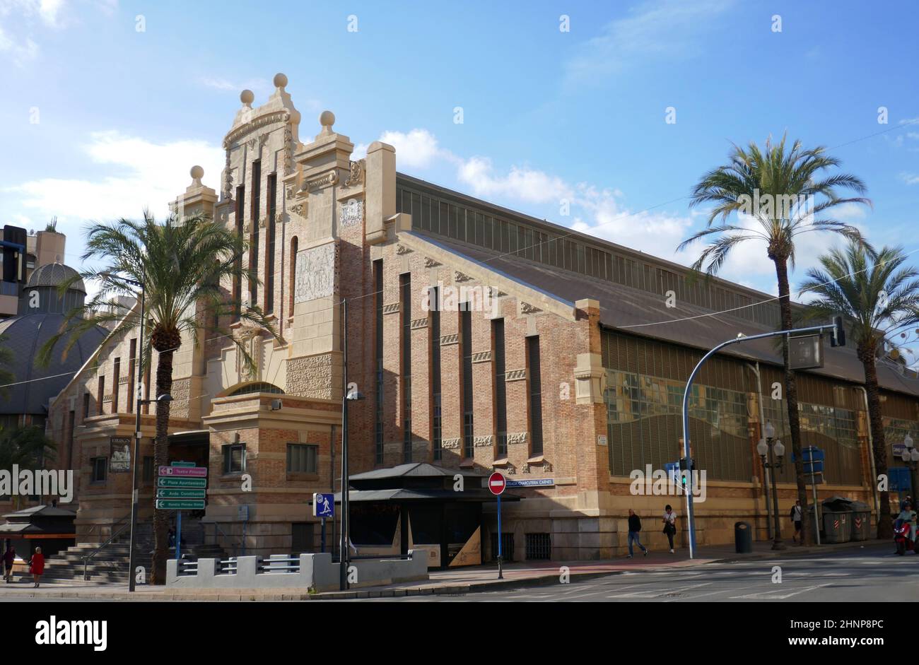
<path id="1" fill-rule="evenodd" d="M 794 267 L 795 239 L 802 233 L 831 231 L 860 241 L 861 235 L 856 228 L 825 218 L 823 213 L 847 203 L 870 205 L 868 198 L 840 197 L 837 193 L 839 189 L 849 189 L 864 194 L 866 187 L 855 175 L 824 175 L 827 169 L 838 166 L 839 160 L 826 154 L 826 149 L 821 146 L 805 150 L 800 141 L 795 141 L 788 150 L 785 136 L 775 144 L 771 138 L 766 139 L 765 150 L 760 150 L 752 141 L 746 149 L 734 145 L 729 160 L 729 163 L 703 175 L 693 189 L 691 207 L 713 203 L 714 208 L 709 211 L 706 228 L 681 242 L 679 249 L 702 238 L 713 237 L 714 240 L 693 265 L 695 270 L 704 269 L 712 275 L 718 272 L 732 249 L 741 242 L 765 242 L 766 255 L 776 266 L 781 329 L 789 330 L 792 327 L 789 261 Z M 742 218 L 735 224 L 726 223 L 731 213 L 745 213 L 750 220 Z M 720 223 L 715 224 L 718 218 Z M 798 387 L 795 373 L 789 365 L 789 344 L 785 339 L 782 356 L 798 498 L 806 508 Z M 807 510 L 804 511 L 804 521 L 804 537 L 810 542 Z"/>

